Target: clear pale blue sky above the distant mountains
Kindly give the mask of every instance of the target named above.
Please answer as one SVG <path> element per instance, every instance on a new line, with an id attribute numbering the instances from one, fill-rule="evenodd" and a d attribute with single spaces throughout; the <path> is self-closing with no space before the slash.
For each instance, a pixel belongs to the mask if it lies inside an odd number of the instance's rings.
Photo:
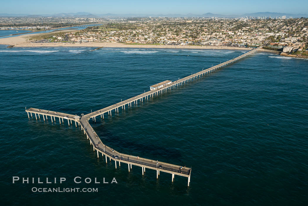
<path id="1" fill-rule="evenodd" d="M 245 14 L 254 12 L 308 13 L 308 0 L 14 0 L 1 1 L 0 13 L 55 14 Z"/>

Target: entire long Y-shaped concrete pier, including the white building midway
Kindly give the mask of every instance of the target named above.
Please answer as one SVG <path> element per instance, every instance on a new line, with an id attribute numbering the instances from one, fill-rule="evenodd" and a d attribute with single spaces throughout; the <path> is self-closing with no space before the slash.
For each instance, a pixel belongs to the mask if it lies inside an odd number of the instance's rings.
<path id="1" fill-rule="evenodd" d="M 101 141 L 99 136 L 96 134 L 95 130 L 92 128 L 89 121 L 92 119 L 92 122 L 96 122 L 96 117 L 98 116 L 104 119 L 106 115 L 111 116 L 112 113 L 119 113 L 119 108 L 122 110 L 129 109 L 132 107 L 132 103 L 137 105 L 138 101 L 139 102 L 148 101 L 149 97 L 157 96 L 158 94 L 163 93 L 167 90 L 170 90 L 172 88 L 177 88 L 178 86 L 182 84 L 193 81 L 194 79 L 207 75 L 210 72 L 214 72 L 215 70 L 219 68 L 225 67 L 229 64 L 232 64 L 238 60 L 245 58 L 246 56 L 252 55 L 253 53 L 259 51 L 262 47 L 263 46 L 257 47 L 251 51 L 246 52 L 245 54 L 241 56 L 238 56 L 231 60 L 227 60 L 226 62 L 223 62 L 216 66 L 212 66 L 208 69 L 205 69 L 200 72 L 194 73 L 192 75 L 186 76 L 174 82 L 170 83 L 168 81 L 168 84 L 164 84 L 162 87 L 157 87 L 156 89 L 152 89 L 148 92 L 144 92 L 135 97 L 129 98 L 124 101 L 120 101 L 111 106 L 99 109 L 97 111 L 94 111 L 94 112 L 91 112 L 85 115 L 81 114 L 80 116 L 78 116 L 78 115 L 72 115 L 72 114 L 67 114 L 67 113 L 49 111 L 49 110 L 44 110 L 44 109 L 36 109 L 36 108 L 29 108 L 29 109 L 26 109 L 25 111 L 28 114 L 29 119 L 30 119 L 30 116 L 32 118 L 35 116 L 37 120 L 38 118 L 40 119 L 42 116 L 44 121 L 50 118 L 51 122 L 56 123 L 59 121 L 59 124 L 64 124 L 66 120 L 69 126 L 75 123 L 75 126 L 81 128 L 81 131 L 83 131 L 83 134 L 89 140 L 90 145 L 93 146 L 93 151 L 96 150 L 97 158 L 99 158 L 100 155 L 102 155 L 102 158 L 105 156 L 106 163 L 108 162 L 108 159 L 109 161 L 113 160 L 115 162 L 115 168 L 117 168 L 117 165 L 119 165 L 120 167 L 121 163 L 122 164 L 124 163 L 128 165 L 128 172 L 130 172 L 132 170 L 132 165 L 138 166 L 138 167 L 141 167 L 142 175 L 144 175 L 145 168 L 148 168 L 148 169 L 156 170 L 156 178 L 159 177 L 160 171 L 162 171 L 162 172 L 172 174 L 172 182 L 174 180 L 174 175 L 184 176 L 188 178 L 188 186 L 189 186 L 190 176 L 191 176 L 191 171 L 192 171 L 191 168 L 180 166 L 180 165 L 164 163 L 164 162 L 160 162 L 157 160 L 146 159 L 146 158 L 142 158 L 139 156 L 122 154 L 114 150 L 113 148 L 105 145 Z"/>

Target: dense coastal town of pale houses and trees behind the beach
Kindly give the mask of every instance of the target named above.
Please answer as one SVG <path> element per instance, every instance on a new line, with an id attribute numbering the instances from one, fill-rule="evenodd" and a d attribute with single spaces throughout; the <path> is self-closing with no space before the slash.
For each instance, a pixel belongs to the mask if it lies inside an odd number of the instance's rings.
<path id="1" fill-rule="evenodd" d="M 110 42 L 134 45 L 194 45 L 200 48 L 258 47 L 262 44 L 265 45 L 265 49 L 287 55 L 308 56 L 307 18 L 77 18 L 74 19 L 74 23 L 83 23 L 80 19 L 96 23 L 98 26 L 51 33 L 42 39 L 32 38 L 30 42 Z M 49 25 L 48 28 L 51 27 L 52 25 Z"/>

